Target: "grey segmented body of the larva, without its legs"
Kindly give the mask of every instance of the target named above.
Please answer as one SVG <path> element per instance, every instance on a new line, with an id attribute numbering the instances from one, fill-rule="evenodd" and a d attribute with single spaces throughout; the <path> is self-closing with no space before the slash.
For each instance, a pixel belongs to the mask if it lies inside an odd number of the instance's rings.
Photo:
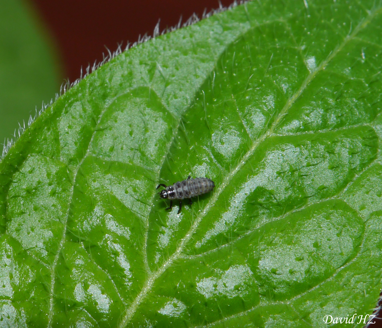
<path id="1" fill-rule="evenodd" d="M 214 189 L 215 184 L 211 179 L 195 178 L 175 182 L 166 187 L 168 199 L 185 199 L 199 196 Z"/>

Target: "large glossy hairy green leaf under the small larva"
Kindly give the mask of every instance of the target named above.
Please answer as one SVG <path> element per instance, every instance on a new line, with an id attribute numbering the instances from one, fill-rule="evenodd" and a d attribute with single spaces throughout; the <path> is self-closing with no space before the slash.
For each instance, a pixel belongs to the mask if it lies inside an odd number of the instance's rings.
<path id="1" fill-rule="evenodd" d="M 370 315 L 381 5 L 248 2 L 66 92 L 0 164 L 0 320 L 326 327 L 325 315 Z M 157 185 L 188 175 L 213 192 L 165 211 Z"/>

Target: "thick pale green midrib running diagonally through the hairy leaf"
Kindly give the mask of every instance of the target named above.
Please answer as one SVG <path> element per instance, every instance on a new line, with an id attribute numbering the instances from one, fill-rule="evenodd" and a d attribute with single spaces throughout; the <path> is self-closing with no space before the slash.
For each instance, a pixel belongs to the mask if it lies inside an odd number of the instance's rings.
<path id="1" fill-rule="evenodd" d="M 314 79 L 314 77 L 319 73 L 320 71 L 324 70 L 325 67 L 328 65 L 328 63 L 340 52 L 340 50 L 345 47 L 348 42 L 350 42 L 354 37 L 361 31 L 361 29 L 365 28 L 367 24 L 371 22 L 371 20 L 381 11 L 381 8 L 375 9 L 374 11 L 368 12 L 368 15 L 365 19 L 363 19 L 354 29 L 354 31 L 351 34 L 346 35 L 343 42 L 341 44 L 338 44 L 335 49 L 330 52 L 330 54 L 327 56 L 327 58 L 320 63 L 319 67 L 316 68 L 316 70 L 309 73 L 309 75 L 306 77 L 304 82 L 301 84 L 301 87 L 298 89 L 298 91 L 293 94 L 291 98 L 288 99 L 285 106 L 281 110 L 281 112 L 277 115 L 276 119 L 272 123 L 271 128 L 265 132 L 261 138 L 258 138 L 254 143 L 253 146 L 249 149 L 249 151 L 244 155 L 243 158 L 238 161 L 238 165 L 235 167 L 235 169 L 231 170 L 231 172 L 225 176 L 225 179 L 223 180 L 222 184 L 219 185 L 219 187 L 216 189 L 216 192 L 213 193 L 212 197 L 210 198 L 209 202 L 207 203 L 204 210 L 197 216 L 196 220 L 194 221 L 193 225 L 189 229 L 189 231 L 186 233 L 185 237 L 181 239 L 181 242 L 179 243 L 179 246 L 176 248 L 175 252 L 168 258 L 165 263 L 155 272 L 149 275 L 149 278 L 146 280 L 144 287 L 142 288 L 141 292 L 138 294 L 138 296 L 134 299 L 134 301 L 131 303 L 130 307 L 126 311 L 126 315 L 121 320 L 120 325 L 118 325 L 119 328 L 124 328 L 128 324 L 128 322 L 133 317 L 134 313 L 139 307 L 139 304 L 144 300 L 147 294 L 151 291 L 151 288 L 157 278 L 159 278 L 162 273 L 164 273 L 168 267 L 172 265 L 172 263 L 177 260 L 178 258 L 181 258 L 181 253 L 183 252 L 186 244 L 189 242 L 191 237 L 193 236 L 194 232 L 197 230 L 199 223 L 202 221 L 204 216 L 209 212 L 209 210 L 212 208 L 212 206 L 215 204 L 217 199 L 219 198 L 220 194 L 223 192 L 224 188 L 227 187 L 227 185 L 230 183 L 231 179 L 235 176 L 235 174 L 243 167 L 243 165 L 248 161 L 248 159 L 253 155 L 254 151 L 257 149 L 257 147 L 270 135 L 272 135 L 277 128 L 278 124 L 282 121 L 283 117 L 287 114 L 288 109 L 293 105 L 293 103 L 298 99 L 298 97 L 303 93 L 303 91 L 306 89 L 308 84 Z M 146 255 L 147 256 L 147 255 Z"/>

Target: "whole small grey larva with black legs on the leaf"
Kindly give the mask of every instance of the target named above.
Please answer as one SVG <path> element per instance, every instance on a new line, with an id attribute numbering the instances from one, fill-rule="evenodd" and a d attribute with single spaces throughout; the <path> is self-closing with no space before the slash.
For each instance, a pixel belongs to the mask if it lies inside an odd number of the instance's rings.
<path id="1" fill-rule="evenodd" d="M 159 183 L 157 189 L 162 186 L 165 190 L 159 192 L 160 198 L 168 198 L 170 199 L 170 207 L 167 209 L 172 209 L 172 200 L 179 199 L 179 211 L 180 213 L 182 209 L 182 199 L 189 198 L 189 204 L 192 204 L 191 197 L 199 196 L 204 193 L 207 193 L 214 189 L 215 183 L 211 179 L 208 178 L 195 178 L 190 179 L 191 175 L 188 176 L 187 180 L 183 180 L 182 182 L 175 182 L 172 186 L 166 186 L 163 183 Z"/>

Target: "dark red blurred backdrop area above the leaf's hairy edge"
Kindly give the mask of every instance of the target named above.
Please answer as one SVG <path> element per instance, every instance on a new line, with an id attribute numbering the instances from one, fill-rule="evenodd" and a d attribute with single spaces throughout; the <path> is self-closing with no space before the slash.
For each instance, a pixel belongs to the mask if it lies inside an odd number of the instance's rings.
<path id="1" fill-rule="evenodd" d="M 218 0 L 29 0 L 56 42 L 62 61 L 63 78 L 71 82 L 79 78 L 81 66 L 86 68 L 102 53 L 111 51 L 123 41 L 138 41 L 139 34 L 152 35 L 160 19 L 160 31 L 185 22 L 194 12 L 219 8 Z M 222 0 L 228 6 L 233 0 Z"/>

